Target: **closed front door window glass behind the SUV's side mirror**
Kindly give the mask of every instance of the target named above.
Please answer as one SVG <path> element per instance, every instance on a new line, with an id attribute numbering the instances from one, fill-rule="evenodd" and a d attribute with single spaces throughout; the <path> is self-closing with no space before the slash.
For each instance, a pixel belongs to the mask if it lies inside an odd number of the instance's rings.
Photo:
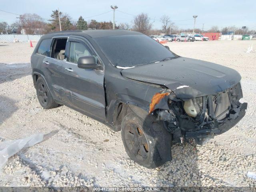
<path id="1" fill-rule="evenodd" d="M 78 63 L 78 59 L 80 57 L 92 55 L 92 51 L 88 48 L 88 46 L 78 42 L 70 42 L 70 62 Z"/>

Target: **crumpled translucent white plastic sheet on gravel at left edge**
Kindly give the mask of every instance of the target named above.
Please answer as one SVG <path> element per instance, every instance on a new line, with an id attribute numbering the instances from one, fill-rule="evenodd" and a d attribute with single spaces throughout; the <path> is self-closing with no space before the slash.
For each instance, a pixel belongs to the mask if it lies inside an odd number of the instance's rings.
<path id="1" fill-rule="evenodd" d="M 4 167 L 9 157 L 18 153 L 22 148 L 31 147 L 43 140 L 44 134 L 34 134 L 32 136 L 0 142 L 0 169 Z"/>

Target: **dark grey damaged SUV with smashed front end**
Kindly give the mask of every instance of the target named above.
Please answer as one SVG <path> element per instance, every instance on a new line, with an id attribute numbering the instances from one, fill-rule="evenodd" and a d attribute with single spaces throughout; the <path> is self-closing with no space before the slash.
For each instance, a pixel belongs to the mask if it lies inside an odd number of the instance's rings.
<path id="1" fill-rule="evenodd" d="M 115 131 L 138 164 L 171 160 L 171 144 L 204 144 L 245 115 L 241 76 L 231 68 L 180 57 L 126 30 L 42 36 L 32 77 L 43 108 L 66 105 Z"/>

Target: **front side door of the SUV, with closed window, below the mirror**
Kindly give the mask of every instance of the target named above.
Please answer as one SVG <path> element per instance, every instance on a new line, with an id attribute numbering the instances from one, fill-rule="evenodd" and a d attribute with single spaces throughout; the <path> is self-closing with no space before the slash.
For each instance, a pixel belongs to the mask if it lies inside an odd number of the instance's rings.
<path id="1" fill-rule="evenodd" d="M 94 118 L 106 120 L 104 70 L 78 68 L 78 58 L 95 56 L 102 64 L 90 43 L 82 37 L 73 36 L 67 43 L 67 62 L 65 64 L 66 89 L 71 92 L 72 107 L 86 112 Z"/>

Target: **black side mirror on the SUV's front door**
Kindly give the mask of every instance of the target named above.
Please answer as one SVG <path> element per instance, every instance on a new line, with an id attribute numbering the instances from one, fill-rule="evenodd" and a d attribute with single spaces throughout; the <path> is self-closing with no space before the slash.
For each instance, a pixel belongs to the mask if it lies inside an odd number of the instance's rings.
<path id="1" fill-rule="evenodd" d="M 98 70 L 101 68 L 101 65 L 98 65 L 96 58 L 94 56 L 83 56 L 78 59 L 78 68 L 81 69 L 95 69 Z"/>

